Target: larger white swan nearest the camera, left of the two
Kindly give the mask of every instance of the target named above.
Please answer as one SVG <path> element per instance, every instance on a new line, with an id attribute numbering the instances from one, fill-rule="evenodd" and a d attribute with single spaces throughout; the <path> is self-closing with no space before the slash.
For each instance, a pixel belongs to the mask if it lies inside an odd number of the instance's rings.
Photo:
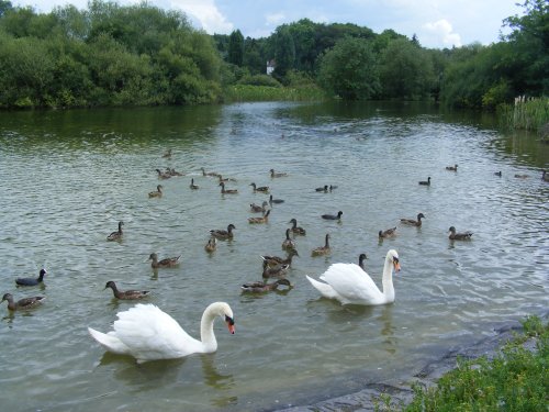
<path id="1" fill-rule="evenodd" d="M 216 316 L 223 318 L 228 331 L 235 333 L 233 311 L 225 302 L 212 303 L 204 310 L 200 322 L 201 341 L 191 337 L 173 318 L 154 304 L 136 304 L 116 315 L 114 331 L 105 334 L 88 327 L 88 332 L 108 352 L 131 355 L 138 363 L 215 352 L 217 341 L 213 322 Z"/>

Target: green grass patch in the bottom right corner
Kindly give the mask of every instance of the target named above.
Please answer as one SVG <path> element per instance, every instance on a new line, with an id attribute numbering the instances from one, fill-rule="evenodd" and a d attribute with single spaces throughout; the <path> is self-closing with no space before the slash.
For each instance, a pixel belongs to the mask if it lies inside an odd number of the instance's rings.
<path id="1" fill-rule="evenodd" d="M 516 335 L 492 360 L 458 359 L 436 387 L 415 386 L 406 412 L 444 411 L 549 411 L 549 324 L 537 316 L 523 322 Z M 523 347 L 536 338 L 537 350 Z M 386 409 L 385 409 L 386 410 Z"/>

